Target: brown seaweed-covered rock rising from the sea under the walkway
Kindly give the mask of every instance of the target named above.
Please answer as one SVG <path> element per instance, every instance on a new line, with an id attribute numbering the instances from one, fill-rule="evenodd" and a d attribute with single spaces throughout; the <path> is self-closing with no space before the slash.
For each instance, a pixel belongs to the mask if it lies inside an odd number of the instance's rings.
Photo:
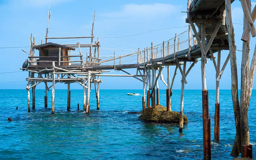
<path id="1" fill-rule="evenodd" d="M 156 108 L 146 108 L 144 113 L 139 117 L 140 120 L 149 122 L 163 122 L 163 123 L 179 123 L 180 113 L 175 111 L 166 111 L 166 107 L 162 105 Z M 184 115 L 184 123 L 188 123 L 188 118 Z"/>

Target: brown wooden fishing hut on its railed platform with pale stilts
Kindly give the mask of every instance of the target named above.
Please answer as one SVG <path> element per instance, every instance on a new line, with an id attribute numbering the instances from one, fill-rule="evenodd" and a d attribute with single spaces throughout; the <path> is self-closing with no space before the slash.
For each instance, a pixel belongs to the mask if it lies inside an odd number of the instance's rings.
<path id="1" fill-rule="evenodd" d="M 95 19 L 95 14 L 94 14 Z M 48 21 L 49 22 L 49 21 Z M 52 88 L 52 114 L 54 114 L 54 97 L 55 97 L 55 84 L 65 83 L 68 85 L 68 100 L 67 110 L 70 109 L 70 84 L 78 83 L 83 87 L 84 99 L 83 109 L 87 114 L 90 112 L 90 88 L 92 84 L 95 84 L 95 92 L 97 98 L 97 109 L 100 109 L 99 90 L 102 80 L 100 80 L 100 74 L 103 72 L 98 69 L 87 70 L 85 66 L 94 66 L 100 64 L 100 42 L 98 40 L 93 43 L 93 29 L 94 20 L 92 23 L 92 35 L 91 36 L 76 36 L 76 37 L 48 37 L 48 27 L 46 31 L 45 42 L 43 40 L 41 44 L 35 43 L 35 36 L 32 41 L 32 34 L 30 36 L 30 51 L 26 52 L 28 56 L 28 65 L 22 70 L 28 71 L 27 91 L 28 91 L 28 112 L 30 112 L 30 89 L 32 89 L 32 109 L 35 109 L 35 88 L 40 83 L 45 84 L 45 96 L 44 107 L 47 108 L 47 91 Z M 48 42 L 48 39 L 78 39 L 78 38 L 91 38 L 91 44 L 57 44 Z M 89 55 L 87 53 L 84 61 L 81 52 L 81 47 L 90 48 Z M 78 48 L 78 55 L 71 55 L 71 51 L 75 51 Z M 92 53 L 94 49 L 94 54 Z M 38 51 L 38 53 L 36 53 Z M 25 63 L 25 62 L 24 62 Z M 23 64 L 24 65 L 24 64 Z M 97 74 L 97 78 L 96 75 Z M 52 83 L 51 86 L 48 86 Z M 88 89 L 89 88 L 89 89 Z M 79 109 L 79 108 L 78 108 Z"/>

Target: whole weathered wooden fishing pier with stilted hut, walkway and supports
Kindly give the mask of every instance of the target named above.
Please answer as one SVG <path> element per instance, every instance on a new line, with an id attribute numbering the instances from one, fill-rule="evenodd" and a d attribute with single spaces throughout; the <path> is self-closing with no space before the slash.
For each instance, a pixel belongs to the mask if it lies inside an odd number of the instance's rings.
<path id="1" fill-rule="evenodd" d="M 241 0 L 243 4 L 245 0 Z M 90 91 L 92 84 L 96 92 L 97 109 L 100 109 L 100 83 L 102 76 L 131 76 L 141 82 L 143 82 L 144 95 L 142 97 L 142 109 L 146 107 L 154 108 L 155 105 L 159 105 L 159 87 L 160 80 L 166 85 L 166 109 L 172 111 L 171 96 L 172 86 L 175 76 L 180 72 L 181 79 L 181 96 L 180 96 L 180 123 L 179 132 L 183 129 L 183 110 L 184 110 L 184 89 L 187 84 L 186 77 L 193 66 L 201 61 L 201 73 L 202 73 L 202 112 L 203 112 L 203 137 L 204 137 L 204 159 L 211 159 L 211 119 L 209 118 L 209 102 L 208 102 L 208 90 L 206 86 L 206 74 L 205 66 L 207 63 L 213 63 L 216 72 L 216 104 L 215 104 L 215 117 L 214 117 L 214 140 L 219 141 L 220 130 L 220 103 L 219 103 L 219 80 L 221 75 L 227 66 L 230 59 L 231 67 L 234 69 L 235 46 L 234 46 L 234 32 L 232 32 L 232 20 L 230 4 L 233 0 L 194 0 L 190 2 L 188 0 L 187 6 L 187 18 L 188 30 L 175 35 L 170 40 L 162 44 L 145 47 L 144 50 L 138 49 L 138 52 L 129 53 L 126 55 L 116 56 L 115 52 L 113 58 L 102 60 L 100 57 L 100 41 L 94 43 L 94 20 L 92 24 L 91 44 L 55 44 L 47 43 L 48 39 L 59 38 L 84 38 L 84 37 L 48 37 L 48 27 L 46 31 L 46 42 L 41 45 L 35 44 L 35 37 L 32 41 L 32 34 L 30 36 L 30 51 L 28 66 L 20 68 L 28 71 L 28 111 L 30 111 L 30 89 L 33 93 L 33 108 L 35 108 L 35 88 L 37 84 L 43 82 L 45 84 L 45 107 L 47 107 L 47 91 L 52 88 L 52 114 L 54 114 L 54 95 L 55 84 L 65 83 L 68 84 L 68 102 L 67 110 L 70 109 L 70 84 L 78 83 L 84 89 L 83 109 L 89 115 L 90 112 Z M 226 7 L 225 7 L 226 6 Z M 247 8 L 248 9 L 248 8 Z M 228 12 L 228 13 L 226 13 Z M 244 11 L 245 12 L 245 11 Z M 256 12 L 256 10 L 255 10 Z M 252 13 L 253 14 L 253 13 Z M 255 14 L 255 13 L 254 13 Z M 250 15 L 249 15 L 250 16 Z M 95 16 L 94 16 L 95 18 Z M 255 16 L 256 18 L 256 16 Z M 253 18 L 255 20 L 255 18 Z M 248 18 L 249 19 L 249 18 Z M 253 21 L 254 21 L 253 20 Z M 49 21 L 48 21 L 49 22 Z M 228 24 L 228 25 L 227 25 Z M 232 26 L 232 27 L 230 27 Z M 254 25 L 253 25 L 254 26 Z M 248 29 L 249 28 L 249 29 Z M 252 26 L 249 25 L 247 30 L 245 28 L 242 39 L 249 41 Z M 191 33 L 192 29 L 192 33 Z M 253 28 L 252 28 L 253 29 Z M 249 30 L 249 31 L 248 31 Z M 255 28 L 254 28 L 255 30 Z M 249 34 L 248 34 L 249 33 Z M 180 41 L 180 36 L 185 35 L 188 39 Z M 247 36 L 247 37 L 246 37 Z M 193 45 L 191 45 L 191 41 Z M 186 44 L 186 47 L 180 48 L 181 44 Z M 84 58 L 81 52 L 81 47 L 89 47 L 90 52 Z M 161 47 L 161 49 L 160 49 Z M 71 51 L 78 48 L 78 55 L 71 55 Z M 39 56 L 35 56 L 35 50 L 39 51 Z M 220 68 L 221 50 L 229 50 L 230 53 L 225 57 L 225 63 Z M 171 53 L 172 52 L 172 53 Z M 215 60 L 214 53 L 217 52 L 217 60 Z M 160 56 L 161 53 L 161 56 Z M 137 56 L 137 63 L 125 64 L 123 58 L 130 56 Z M 37 59 L 36 59 L 37 58 Z M 71 60 L 71 58 L 73 60 Z M 74 60 L 76 58 L 76 60 Z M 77 60 L 78 59 L 78 60 Z M 104 65 L 106 62 L 114 61 L 113 65 Z M 187 62 L 193 62 L 190 67 L 187 67 Z M 163 77 L 163 68 L 167 68 L 167 81 L 165 82 Z M 170 66 L 176 66 L 172 79 L 170 77 Z M 124 69 L 136 68 L 136 73 L 130 74 Z M 248 67 L 249 68 L 249 67 Z M 108 70 L 120 70 L 126 73 L 126 75 L 111 75 L 102 74 L 103 72 L 109 72 Z M 233 72 L 233 74 L 237 74 Z M 37 76 L 36 76 L 37 74 Z M 57 77 L 55 77 L 57 75 Z M 254 75 L 254 72 L 253 72 Z M 237 75 L 236 75 L 237 76 Z M 237 81 L 237 79 L 236 79 Z M 51 82 L 52 85 L 48 87 L 47 83 Z M 235 79 L 232 77 L 232 85 Z M 233 86 L 232 86 L 233 87 Z M 156 91 L 155 91 L 156 88 Z M 147 91 L 146 91 L 147 90 Z M 235 92 L 235 91 L 234 91 Z M 147 94 L 147 98 L 146 98 Z M 156 94 L 156 100 L 155 100 Z M 232 88 L 233 94 L 233 88 Z M 234 94 L 233 94 L 234 95 Z M 237 95 L 238 97 L 238 95 Z M 151 99 L 151 100 L 150 100 Z M 150 105 L 151 101 L 151 105 Z M 155 101 L 157 101 L 155 103 Z M 233 99 L 234 102 L 234 99 Z M 248 104 L 249 105 L 249 104 Z M 239 106 L 238 106 L 239 107 Z M 234 106 L 235 108 L 235 106 Z M 248 109 L 247 109 L 248 110 Z M 240 132 L 240 131 L 239 131 Z M 240 143 L 239 143 L 240 144 Z M 246 144 L 246 148 L 250 148 L 249 144 Z M 249 146 L 249 147 L 248 147 Z M 238 149 L 239 150 L 239 149 Z M 238 155 L 240 151 L 238 151 Z M 246 152 L 247 153 L 247 152 Z M 244 154 L 243 154 L 244 155 Z M 246 155 L 246 154 L 245 154 Z"/>

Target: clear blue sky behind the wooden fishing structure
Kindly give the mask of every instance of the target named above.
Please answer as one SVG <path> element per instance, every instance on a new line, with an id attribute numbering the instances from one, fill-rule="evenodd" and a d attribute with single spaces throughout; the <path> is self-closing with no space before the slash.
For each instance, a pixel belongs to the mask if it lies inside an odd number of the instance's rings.
<path id="1" fill-rule="evenodd" d="M 255 5 L 252 1 L 252 7 Z M 0 63 L 0 73 L 20 71 L 22 63 L 27 59 L 28 55 L 21 51 L 29 50 L 29 36 L 32 33 L 36 38 L 36 43 L 41 43 L 44 39 L 47 28 L 48 6 L 51 6 L 51 18 L 49 22 L 49 36 L 90 36 L 92 29 L 93 13 L 95 15 L 94 36 L 100 37 L 101 55 L 113 56 L 115 49 L 116 54 L 124 54 L 132 52 L 139 47 L 144 49 L 150 47 L 151 42 L 160 44 L 188 29 L 185 23 L 187 0 L 180 1 L 75 1 L 75 0 L 0 0 L 0 17 L 1 38 L 0 38 L 0 54 L 2 56 Z M 243 23 L 243 10 L 240 1 L 232 4 L 233 23 Z M 172 28 L 181 27 L 181 28 Z M 153 32 L 151 30 L 163 29 Z M 234 24 L 235 40 L 237 49 L 242 50 L 242 41 L 240 40 L 243 25 Z M 147 32 L 144 34 L 140 34 Z M 140 34 L 137 36 L 122 38 L 104 38 L 116 36 L 129 36 Z M 188 38 L 183 34 L 182 38 Z M 96 40 L 96 39 L 95 39 Z M 66 40 L 51 40 L 50 42 L 60 43 Z M 89 44 L 90 40 L 74 40 L 66 43 Z M 255 38 L 251 40 L 251 58 L 255 47 Z M 23 48 L 1 48 L 1 47 L 20 47 Z M 186 46 L 181 46 L 181 48 Z M 77 51 L 76 51 L 77 52 Z M 86 55 L 86 48 L 82 52 Z M 228 51 L 221 52 L 221 67 L 226 60 Z M 241 73 L 242 52 L 236 51 L 238 64 L 238 80 Z M 118 62 L 119 63 L 119 62 Z M 123 63 L 132 63 L 132 58 L 127 59 Z M 136 62 L 135 62 L 136 63 Z M 106 63 L 107 64 L 107 63 Z M 108 63 L 113 64 L 113 63 Z M 189 63 L 187 68 L 189 67 Z M 175 67 L 171 67 L 171 78 Z M 134 74 L 135 69 L 127 69 L 128 72 Z M 164 78 L 166 81 L 167 69 L 164 68 Z M 116 71 L 111 74 L 121 74 Z M 17 72 L 0 74 L 0 89 L 25 89 L 28 76 L 27 72 Z M 103 83 L 101 89 L 142 89 L 142 82 L 132 77 L 102 77 Z M 178 72 L 174 81 L 173 89 L 180 89 L 181 75 Z M 187 76 L 188 84 L 185 89 L 201 89 L 201 67 L 200 61 L 192 68 Z M 212 61 L 206 64 L 206 81 L 208 89 L 215 89 L 215 69 Z M 16 83 L 6 83 L 16 82 Z M 240 81 L 238 82 L 240 88 Z M 56 84 L 56 89 L 66 89 L 64 84 Z M 160 81 L 160 89 L 166 89 L 166 86 Z M 220 89 L 231 88 L 231 72 L 228 63 L 222 78 L 220 79 Z M 44 89 L 44 84 L 39 84 L 37 89 Z M 79 84 L 71 84 L 71 89 L 82 89 Z M 256 89 L 254 85 L 253 89 Z"/>

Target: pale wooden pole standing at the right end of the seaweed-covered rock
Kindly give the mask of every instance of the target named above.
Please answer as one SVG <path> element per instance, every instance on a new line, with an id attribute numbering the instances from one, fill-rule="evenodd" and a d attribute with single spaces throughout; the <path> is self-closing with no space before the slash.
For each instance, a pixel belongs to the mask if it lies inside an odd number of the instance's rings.
<path id="1" fill-rule="evenodd" d="M 183 74 L 185 75 L 186 73 L 186 64 L 187 62 L 184 61 L 183 63 Z M 183 122 L 184 122 L 184 116 L 183 116 L 183 112 L 184 112 L 184 89 L 185 89 L 185 82 L 182 78 L 181 80 L 181 94 L 180 94 L 180 123 L 179 123 L 179 132 L 182 132 L 183 130 Z"/>

